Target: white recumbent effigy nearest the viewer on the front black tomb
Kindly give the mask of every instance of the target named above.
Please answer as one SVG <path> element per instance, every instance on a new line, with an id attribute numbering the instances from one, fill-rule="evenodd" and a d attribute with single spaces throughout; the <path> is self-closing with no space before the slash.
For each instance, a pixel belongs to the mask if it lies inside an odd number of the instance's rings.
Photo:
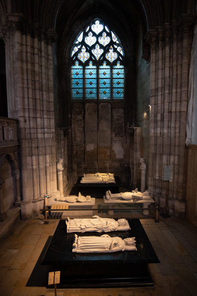
<path id="1" fill-rule="evenodd" d="M 73 253 L 113 253 L 118 251 L 137 251 L 135 237 L 122 239 L 108 234 L 101 236 L 79 236 L 75 234 Z"/>

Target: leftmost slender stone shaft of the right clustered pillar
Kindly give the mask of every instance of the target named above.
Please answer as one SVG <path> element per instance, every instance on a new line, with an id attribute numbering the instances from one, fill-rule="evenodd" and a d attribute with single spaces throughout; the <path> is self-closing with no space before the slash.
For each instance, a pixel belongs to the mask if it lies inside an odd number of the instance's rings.
<path id="1" fill-rule="evenodd" d="M 149 37 L 149 36 L 148 36 Z M 151 45 L 151 81 L 150 81 L 150 151 L 149 151 L 149 169 L 148 169 L 148 189 L 150 192 L 155 192 L 154 187 L 154 165 L 155 165 L 155 116 L 157 114 L 156 106 L 156 36 L 150 34 Z"/>

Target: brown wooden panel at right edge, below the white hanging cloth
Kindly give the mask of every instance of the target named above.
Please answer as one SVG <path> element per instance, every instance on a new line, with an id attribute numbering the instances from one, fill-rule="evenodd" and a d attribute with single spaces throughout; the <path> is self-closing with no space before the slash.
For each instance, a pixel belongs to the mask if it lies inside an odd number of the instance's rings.
<path id="1" fill-rule="evenodd" d="M 197 145 L 188 146 L 186 162 L 186 217 L 197 226 Z"/>

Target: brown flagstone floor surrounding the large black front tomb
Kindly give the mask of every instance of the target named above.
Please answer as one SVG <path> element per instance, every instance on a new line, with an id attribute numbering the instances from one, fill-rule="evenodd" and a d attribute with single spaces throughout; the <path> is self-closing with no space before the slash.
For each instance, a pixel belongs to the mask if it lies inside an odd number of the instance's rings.
<path id="1" fill-rule="evenodd" d="M 106 214 L 107 215 L 107 214 Z M 140 217 L 137 217 L 137 215 Z M 118 215 L 121 216 L 121 215 Z M 140 218 L 160 260 L 149 264 L 154 287 L 57 289 L 57 296 L 196 296 L 197 227 L 186 218 Z M 128 217 L 129 218 L 129 217 Z M 53 289 L 26 287 L 28 278 L 59 220 L 19 221 L 0 241 L 0 296 L 54 296 Z"/>

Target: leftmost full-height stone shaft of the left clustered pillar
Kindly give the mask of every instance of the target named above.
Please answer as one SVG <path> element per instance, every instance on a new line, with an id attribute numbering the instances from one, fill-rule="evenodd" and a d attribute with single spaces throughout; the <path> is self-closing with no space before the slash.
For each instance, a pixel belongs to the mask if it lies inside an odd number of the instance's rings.
<path id="1" fill-rule="evenodd" d="M 21 148 L 21 174 L 22 174 L 22 203 L 29 203 L 29 188 L 28 188 L 28 166 L 26 155 L 26 124 L 25 124 L 25 112 L 24 112 L 24 100 L 23 100 L 23 71 L 22 71 L 22 33 L 16 31 L 15 33 L 15 81 L 16 81 L 16 102 L 17 113 L 19 118 L 19 138 Z"/>

